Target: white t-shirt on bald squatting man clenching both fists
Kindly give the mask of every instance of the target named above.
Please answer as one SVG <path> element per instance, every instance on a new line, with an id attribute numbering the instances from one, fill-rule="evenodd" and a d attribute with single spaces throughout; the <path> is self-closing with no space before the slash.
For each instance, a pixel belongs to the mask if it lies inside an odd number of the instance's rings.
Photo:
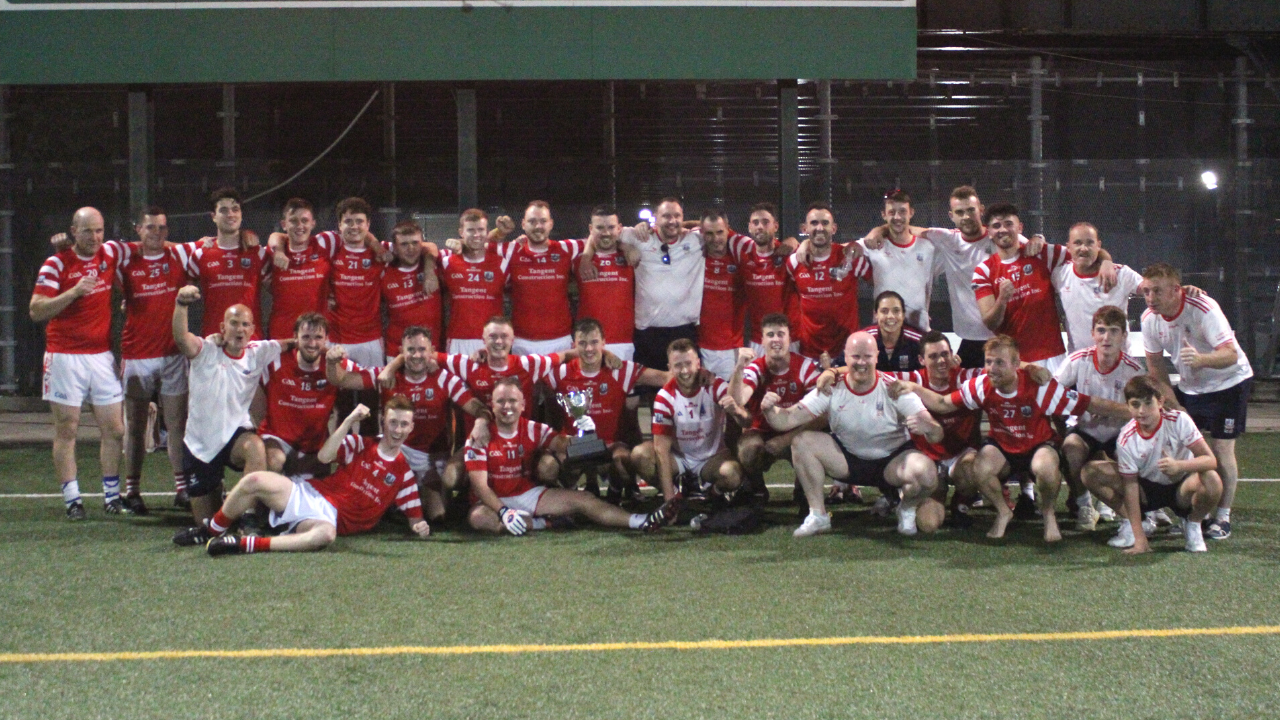
<path id="1" fill-rule="evenodd" d="M 861 393 L 854 392 L 849 378 L 836 383 L 829 396 L 809 391 L 800 405 L 817 416 L 826 414 L 831 434 L 846 451 L 863 460 L 888 457 L 911 439 L 906 419 L 924 410 L 924 404 L 911 392 L 891 398 L 887 383 L 893 375 L 888 373 L 876 373 L 876 384 Z"/>

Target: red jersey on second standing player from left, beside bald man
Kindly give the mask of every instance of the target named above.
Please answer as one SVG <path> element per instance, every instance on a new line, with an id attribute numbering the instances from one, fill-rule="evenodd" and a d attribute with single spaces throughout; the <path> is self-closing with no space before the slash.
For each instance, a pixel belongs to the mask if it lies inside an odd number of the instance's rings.
<path id="1" fill-rule="evenodd" d="M 178 252 L 166 247 L 143 255 L 141 242 L 119 243 L 120 263 L 115 277 L 124 291 L 124 332 L 120 356 L 146 360 L 178 354 L 173 342 L 173 306 L 187 273 Z"/>

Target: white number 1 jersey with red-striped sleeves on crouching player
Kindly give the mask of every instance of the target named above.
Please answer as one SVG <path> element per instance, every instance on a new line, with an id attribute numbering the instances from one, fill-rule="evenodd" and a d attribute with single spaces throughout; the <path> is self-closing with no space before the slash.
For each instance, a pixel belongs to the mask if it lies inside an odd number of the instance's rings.
<path id="1" fill-rule="evenodd" d="M 690 397 L 671 378 L 653 398 L 653 434 L 671 437 L 672 452 L 700 466 L 724 450 L 724 409 L 719 401 L 727 393 L 728 383 L 716 378 L 710 387 L 700 387 Z"/>

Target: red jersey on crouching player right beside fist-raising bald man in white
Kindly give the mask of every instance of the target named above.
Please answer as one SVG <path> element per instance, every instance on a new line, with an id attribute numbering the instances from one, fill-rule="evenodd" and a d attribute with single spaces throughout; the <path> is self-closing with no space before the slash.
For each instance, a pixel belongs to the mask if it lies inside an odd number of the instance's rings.
<path id="1" fill-rule="evenodd" d="M 356 373 L 365 388 L 378 382 L 374 369 L 364 369 L 346 361 L 348 373 Z M 266 395 L 266 416 L 257 428 L 259 434 L 275 436 L 298 452 L 315 454 L 329 437 L 329 415 L 338 400 L 338 388 L 325 378 L 321 356 L 314 370 L 298 366 L 296 350 L 282 352 L 280 357 L 262 372 L 262 392 Z"/>

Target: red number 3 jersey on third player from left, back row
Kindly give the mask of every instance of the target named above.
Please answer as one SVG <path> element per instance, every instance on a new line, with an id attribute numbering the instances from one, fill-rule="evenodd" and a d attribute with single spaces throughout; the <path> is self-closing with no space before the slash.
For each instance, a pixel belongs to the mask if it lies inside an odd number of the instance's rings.
<path id="1" fill-rule="evenodd" d="M 271 272 L 266 246 L 242 250 L 239 245 L 227 249 L 188 242 L 175 249 L 186 261 L 187 274 L 200 284 L 200 297 L 205 301 L 200 334 L 207 337 L 221 332 L 227 309 L 244 305 L 253 313 L 253 340 L 261 340 L 262 314 L 259 311 L 257 299 L 262 279 Z"/>

